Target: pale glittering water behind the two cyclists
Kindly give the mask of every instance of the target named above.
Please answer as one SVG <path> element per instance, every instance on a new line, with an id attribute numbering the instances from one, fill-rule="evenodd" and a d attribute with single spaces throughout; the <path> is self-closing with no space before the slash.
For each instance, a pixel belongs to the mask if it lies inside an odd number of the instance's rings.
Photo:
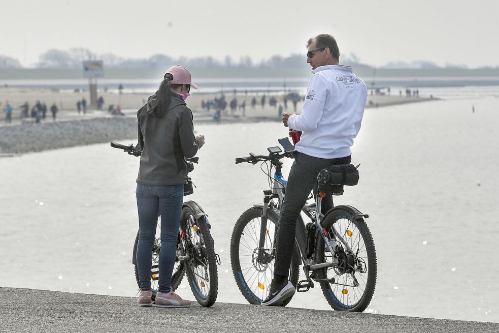
<path id="1" fill-rule="evenodd" d="M 335 204 L 370 216 L 378 281 L 367 312 L 499 322 L 499 99 L 452 91 L 364 113 L 352 160 L 361 163 L 359 185 Z M 235 158 L 266 154 L 287 130 L 245 123 L 196 131 L 206 145 L 185 199 L 209 215 L 221 258 L 217 300 L 245 303 L 230 236 L 268 181 L 259 165 Z M 292 160 L 284 162 L 287 176 Z M 0 159 L 0 286 L 135 296 L 138 163 L 109 144 Z M 194 299 L 186 278 L 178 293 Z M 289 306 L 330 309 L 319 286 Z"/>

